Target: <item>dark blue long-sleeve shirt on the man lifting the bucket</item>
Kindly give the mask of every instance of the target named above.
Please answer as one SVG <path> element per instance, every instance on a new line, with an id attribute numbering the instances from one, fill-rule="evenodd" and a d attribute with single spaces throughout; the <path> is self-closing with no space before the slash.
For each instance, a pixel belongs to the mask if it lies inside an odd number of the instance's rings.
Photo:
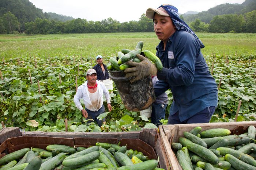
<path id="1" fill-rule="evenodd" d="M 167 40 L 165 50 L 162 41 L 156 49 L 163 70 L 157 73 L 160 81 L 154 85 L 155 95 L 171 89 L 171 115 L 179 111 L 182 122 L 206 107 L 217 107 L 217 84 L 208 70 L 198 41 L 190 33 L 175 31 Z"/>

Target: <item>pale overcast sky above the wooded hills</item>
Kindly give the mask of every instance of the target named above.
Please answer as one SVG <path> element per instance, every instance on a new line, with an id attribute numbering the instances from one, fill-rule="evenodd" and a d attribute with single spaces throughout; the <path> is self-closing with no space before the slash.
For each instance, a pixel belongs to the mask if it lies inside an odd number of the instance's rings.
<path id="1" fill-rule="evenodd" d="M 147 8 L 157 8 L 161 4 L 172 4 L 179 13 L 188 11 L 207 11 L 209 8 L 225 3 L 241 4 L 245 0 L 29 0 L 43 12 L 72 16 L 92 21 L 111 17 L 120 23 L 138 21 Z"/>

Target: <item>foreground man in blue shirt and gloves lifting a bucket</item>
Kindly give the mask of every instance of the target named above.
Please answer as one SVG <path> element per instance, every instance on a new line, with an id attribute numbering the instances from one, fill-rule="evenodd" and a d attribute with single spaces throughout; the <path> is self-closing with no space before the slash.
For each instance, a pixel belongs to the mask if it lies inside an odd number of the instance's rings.
<path id="1" fill-rule="evenodd" d="M 156 96 L 171 89 L 173 102 L 168 124 L 209 122 L 218 104 L 218 90 L 200 50 L 204 48 L 203 43 L 180 19 L 178 9 L 172 5 L 148 8 L 146 16 L 153 19 L 154 31 L 161 40 L 156 55 L 163 69 L 157 70 L 155 64 L 137 55 L 142 62 L 128 62 L 135 68 L 127 68 L 125 76 L 135 76 L 130 80 L 133 82 L 150 74 L 157 75 Z"/>

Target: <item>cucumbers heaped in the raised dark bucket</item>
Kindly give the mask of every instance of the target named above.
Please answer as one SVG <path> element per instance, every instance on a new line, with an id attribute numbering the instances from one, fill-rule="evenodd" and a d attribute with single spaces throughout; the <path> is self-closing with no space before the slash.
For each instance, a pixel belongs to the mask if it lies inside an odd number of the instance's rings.
<path id="1" fill-rule="evenodd" d="M 158 70 L 162 70 L 163 65 L 161 60 L 153 53 L 148 50 L 142 52 L 143 42 L 139 41 L 134 50 L 122 49 L 117 53 L 117 57 L 113 56 L 109 59 L 109 64 L 107 65 L 108 70 L 112 71 L 121 71 L 129 68 L 126 63 L 128 61 L 139 63 L 141 62 L 139 58 L 137 58 L 137 54 L 146 56 L 155 64 Z"/>

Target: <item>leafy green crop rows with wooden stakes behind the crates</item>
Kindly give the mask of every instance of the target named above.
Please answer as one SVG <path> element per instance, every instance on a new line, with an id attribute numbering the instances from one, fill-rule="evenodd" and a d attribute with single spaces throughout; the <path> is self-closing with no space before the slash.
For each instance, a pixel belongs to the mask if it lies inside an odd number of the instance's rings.
<path id="1" fill-rule="evenodd" d="M 108 60 L 108 59 L 106 59 Z M 104 63 L 108 63 L 106 61 Z M 255 55 L 206 56 L 209 71 L 219 85 L 219 103 L 211 122 L 256 118 Z M 0 64 L 0 121 L 5 126 L 23 130 L 65 131 L 135 131 L 154 128 L 150 119 L 125 109 L 117 90 L 111 93 L 112 112 L 106 112 L 107 124 L 87 124 L 76 109 L 73 98 L 77 86 L 86 81 L 86 70 L 95 65 L 87 57 L 12 58 Z M 172 93 L 167 91 L 169 104 Z M 34 121 L 35 120 L 35 121 Z M 166 123 L 166 120 L 163 120 Z"/>

